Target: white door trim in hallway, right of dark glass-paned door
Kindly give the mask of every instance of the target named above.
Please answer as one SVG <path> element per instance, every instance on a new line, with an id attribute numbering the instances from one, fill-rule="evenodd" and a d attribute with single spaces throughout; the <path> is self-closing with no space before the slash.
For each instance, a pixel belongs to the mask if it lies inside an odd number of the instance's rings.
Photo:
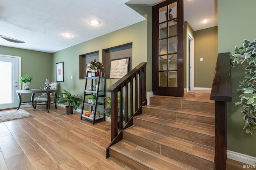
<path id="1" fill-rule="evenodd" d="M 195 84 L 194 84 L 194 72 L 195 72 L 195 39 L 194 37 L 187 31 L 187 42 L 186 42 L 186 67 L 187 67 L 187 71 L 186 71 L 186 87 L 187 87 L 187 92 L 188 92 L 188 87 L 190 87 L 190 90 L 194 90 L 195 89 Z M 189 43 L 188 41 L 190 40 L 190 55 L 189 55 L 189 51 L 188 51 L 188 46 Z M 189 59 L 190 58 L 190 59 Z M 190 63 L 188 64 L 188 61 L 190 61 Z M 190 73 L 189 73 L 189 69 L 190 69 Z M 190 75 L 189 75 L 190 74 Z M 190 79 L 190 80 L 189 80 Z M 189 84 L 190 82 L 190 84 Z"/>

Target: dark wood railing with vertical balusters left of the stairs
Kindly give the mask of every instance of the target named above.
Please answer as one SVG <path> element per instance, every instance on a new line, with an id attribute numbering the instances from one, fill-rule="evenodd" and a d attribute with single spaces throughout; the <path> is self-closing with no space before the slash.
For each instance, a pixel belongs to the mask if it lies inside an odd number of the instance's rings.
<path id="1" fill-rule="evenodd" d="M 142 106 L 147 103 L 146 63 L 140 63 L 106 91 L 111 92 L 111 143 L 106 149 L 106 158 L 108 158 L 109 148 L 123 139 L 123 130 L 133 125 L 133 117 L 140 115 Z"/>

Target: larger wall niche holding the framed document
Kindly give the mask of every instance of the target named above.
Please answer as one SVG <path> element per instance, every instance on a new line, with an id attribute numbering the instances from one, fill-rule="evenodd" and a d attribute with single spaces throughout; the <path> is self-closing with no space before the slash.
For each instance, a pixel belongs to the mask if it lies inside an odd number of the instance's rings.
<path id="1" fill-rule="evenodd" d="M 104 64 L 104 70 L 106 73 L 106 79 L 109 79 L 110 61 L 113 59 L 122 59 L 129 57 L 128 72 L 132 68 L 132 43 L 124 45 L 118 45 L 102 50 L 102 63 Z"/>

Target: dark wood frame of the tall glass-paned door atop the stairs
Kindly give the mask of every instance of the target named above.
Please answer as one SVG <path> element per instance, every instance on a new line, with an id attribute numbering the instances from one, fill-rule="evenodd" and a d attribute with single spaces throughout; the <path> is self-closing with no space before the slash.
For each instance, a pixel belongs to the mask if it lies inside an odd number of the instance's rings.
<path id="1" fill-rule="evenodd" d="M 178 49 L 177 49 L 177 55 L 178 55 L 178 61 L 177 61 L 177 86 L 159 86 L 159 12 L 158 10 L 164 6 L 168 6 L 169 4 L 172 4 L 174 2 L 177 2 L 177 18 L 178 18 L 178 30 L 177 35 L 178 36 Z M 184 97 L 184 9 L 183 9 L 184 3 L 183 0 L 166 0 L 163 2 L 160 2 L 159 4 L 156 4 L 152 8 L 152 90 L 154 95 L 160 95 L 160 96 L 177 96 L 177 97 Z M 166 22 L 166 21 L 164 21 Z M 162 22 L 162 23 L 164 23 Z M 167 21 L 168 23 L 168 21 Z M 173 36 L 173 37 L 175 37 Z M 167 40 L 170 38 L 167 36 Z M 165 39 L 163 37 L 162 39 Z M 168 50 L 168 47 L 167 47 Z M 168 71 L 168 70 L 167 70 Z M 162 72 L 165 72 L 162 71 Z M 167 74 L 168 79 L 168 74 Z"/>

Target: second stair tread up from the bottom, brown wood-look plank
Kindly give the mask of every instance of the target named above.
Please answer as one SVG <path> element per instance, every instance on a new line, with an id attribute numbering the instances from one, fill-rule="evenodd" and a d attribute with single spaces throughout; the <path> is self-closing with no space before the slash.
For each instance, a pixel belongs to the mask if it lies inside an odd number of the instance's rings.
<path id="1" fill-rule="evenodd" d="M 193 145 L 190 142 L 186 142 L 186 140 L 168 137 L 166 135 L 155 133 L 154 131 L 137 126 L 132 126 L 125 129 L 125 132 L 132 133 L 133 135 L 142 137 L 144 139 L 155 141 L 161 145 L 172 147 L 207 160 L 214 161 L 214 150 L 210 150 L 209 147 L 203 145 Z"/>

